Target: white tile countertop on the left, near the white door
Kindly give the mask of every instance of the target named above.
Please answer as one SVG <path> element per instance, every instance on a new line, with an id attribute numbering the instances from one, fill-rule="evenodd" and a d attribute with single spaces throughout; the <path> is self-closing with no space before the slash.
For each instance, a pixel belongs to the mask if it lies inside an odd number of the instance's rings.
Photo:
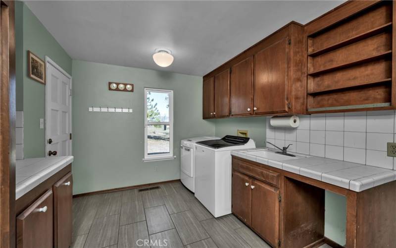
<path id="1" fill-rule="evenodd" d="M 28 158 L 16 161 L 15 199 L 18 199 L 34 187 L 73 162 L 73 156 Z"/>

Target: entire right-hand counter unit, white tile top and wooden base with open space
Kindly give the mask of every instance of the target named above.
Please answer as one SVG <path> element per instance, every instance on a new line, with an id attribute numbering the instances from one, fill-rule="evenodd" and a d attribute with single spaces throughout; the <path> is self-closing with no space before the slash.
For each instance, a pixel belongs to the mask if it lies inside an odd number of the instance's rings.
<path id="1" fill-rule="evenodd" d="M 396 244 L 389 211 L 396 203 L 395 171 L 294 155 L 263 148 L 232 152 L 232 211 L 247 226 L 273 247 L 342 247 L 324 233 L 329 190 L 347 199 L 345 247 Z M 366 176 L 351 177 L 352 171 Z"/>

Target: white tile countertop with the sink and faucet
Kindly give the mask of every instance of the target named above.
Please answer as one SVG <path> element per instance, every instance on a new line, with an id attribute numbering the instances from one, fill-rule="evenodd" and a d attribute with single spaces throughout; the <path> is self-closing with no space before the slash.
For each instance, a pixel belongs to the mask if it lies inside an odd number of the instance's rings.
<path id="1" fill-rule="evenodd" d="M 266 151 L 269 156 L 266 157 Z M 276 154 L 269 159 L 272 149 L 256 148 L 231 151 L 231 154 L 257 163 L 265 164 L 328 184 L 356 192 L 396 180 L 396 171 L 355 164 L 335 159 L 298 154 L 296 157 Z"/>

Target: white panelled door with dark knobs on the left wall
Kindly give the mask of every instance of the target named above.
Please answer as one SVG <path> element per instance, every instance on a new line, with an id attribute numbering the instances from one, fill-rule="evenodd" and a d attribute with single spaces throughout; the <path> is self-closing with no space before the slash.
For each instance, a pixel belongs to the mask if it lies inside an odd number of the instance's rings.
<path id="1" fill-rule="evenodd" d="M 71 76 L 46 58 L 46 156 L 72 155 Z"/>

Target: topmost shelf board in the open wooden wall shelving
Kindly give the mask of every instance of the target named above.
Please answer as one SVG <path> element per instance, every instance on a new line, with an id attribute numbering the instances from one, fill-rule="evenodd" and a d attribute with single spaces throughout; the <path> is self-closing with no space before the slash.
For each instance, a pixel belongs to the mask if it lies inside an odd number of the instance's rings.
<path id="1" fill-rule="evenodd" d="M 373 28 L 373 29 L 371 29 L 371 30 L 369 30 L 367 32 L 364 32 L 364 33 L 361 33 L 359 35 L 353 36 L 353 37 L 351 37 L 351 38 L 349 38 L 347 40 L 335 43 L 333 45 L 330 45 L 330 46 L 327 46 L 325 48 L 322 48 L 322 49 L 319 49 L 317 51 L 314 51 L 312 53 L 309 53 L 308 56 L 315 57 L 315 56 L 322 55 L 322 54 L 330 52 L 332 50 L 336 50 L 338 48 L 347 46 L 349 44 L 352 44 L 354 42 L 363 40 L 363 39 L 368 38 L 370 36 L 379 34 L 379 33 L 383 32 L 384 30 L 386 30 L 387 28 L 390 28 L 390 27 L 392 27 L 392 22 L 388 22 L 388 23 L 386 23 L 384 25 L 381 25 L 379 27 Z"/>

